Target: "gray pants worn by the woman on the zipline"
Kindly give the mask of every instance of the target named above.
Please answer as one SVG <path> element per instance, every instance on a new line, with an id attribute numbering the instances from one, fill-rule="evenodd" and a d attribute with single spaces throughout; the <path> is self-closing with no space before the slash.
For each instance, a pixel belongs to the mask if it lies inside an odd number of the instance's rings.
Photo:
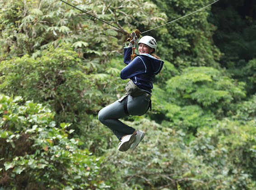
<path id="1" fill-rule="evenodd" d="M 140 97 L 132 97 L 128 95 L 127 109 L 130 115 L 144 115 L 149 108 L 149 97 L 144 95 Z M 124 110 L 124 100 L 118 100 L 106 107 L 98 113 L 99 121 L 112 130 L 116 137 L 121 140 L 121 137 L 132 134 L 135 128 L 132 128 L 119 119 L 127 117 Z"/>

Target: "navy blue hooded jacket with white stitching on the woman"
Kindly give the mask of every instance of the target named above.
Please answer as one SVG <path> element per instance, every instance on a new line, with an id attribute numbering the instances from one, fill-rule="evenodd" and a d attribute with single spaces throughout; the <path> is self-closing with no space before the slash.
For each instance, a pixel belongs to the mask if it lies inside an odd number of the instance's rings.
<path id="1" fill-rule="evenodd" d="M 131 47 L 124 48 L 124 67 L 121 71 L 121 79 L 131 79 L 140 89 L 152 93 L 153 81 L 163 68 L 163 61 L 149 55 L 141 53 L 131 60 Z"/>

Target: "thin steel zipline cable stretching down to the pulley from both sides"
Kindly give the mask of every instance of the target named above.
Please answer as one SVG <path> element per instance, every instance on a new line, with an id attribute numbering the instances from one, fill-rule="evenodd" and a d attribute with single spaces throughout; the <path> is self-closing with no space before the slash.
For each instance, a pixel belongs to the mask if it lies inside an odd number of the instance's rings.
<path id="1" fill-rule="evenodd" d="M 65 3 L 65 4 L 68 4 L 68 5 L 70 5 L 71 7 L 74 7 L 75 9 L 78 9 L 79 11 L 82 11 L 83 13 L 86 13 L 86 14 L 90 15 L 91 17 L 96 18 L 96 19 L 100 20 L 101 22 L 104 22 L 104 23 L 106 23 L 106 24 L 108 24 L 108 25 L 110 25 L 110 26 L 112 26 L 112 27 L 114 27 L 114 28 L 116 28 L 116 29 L 118 29 L 118 30 L 120 30 L 120 31 L 123 31 L 123 32 L 125 32 L 125 33 L 127 33 L 127 34 L 129 34 L 129 35 L 132 35 L 132 34 L 130 34 L 129 32 L 122 30 L 121 28 L 115 27 L 115 26 L 113 26 L 112 24 L 110 24 L 110 23 L 108 23 L 108 22 L 105 22 L 105 21 L 103 21 L 103 20 L 101 20 L 101 19 L 99 19 L 99 18 L 97 18 L 97 17 L 91 15 L 90 13 L 85 12 L 85 11 L 82 10 L 82 9 L 79 9 L 79 8 L 73 6 L 72 4 L 69 4 L 69 3 L 65 2 L 64 0 L 60 0 L 60 1 L 62 1 L 62 2 Z M 214 4 L 214 3 L 218 2 L 218 1 L 219 1 L 219 0 L 215 0 L 214 2 L 212 2 L 212 3 L 208 4 L 208 5 L 206 5 L 205 7 L 201 8 L 201 9 L 198 9 L 198 10 L 192 12 L 192 13 L 189 13 L 189 14 L 187 14 L 187 15 L 181 17 L 181 18 L 184 18 L 184 17 L 189 16 L 189 15 L 191 15 L 191 14 L 194 14 L 194 13 L 196 13 L 196 12 L 202 10 L 202 9 L 205 9 L 206 7 L 209 7 L 210 5 L 212 5 L 212 4 Z M 165 23 L 165 24 L 163 24 L 163 25 L 161 25 L 161 26 L 158 26 L 158 27 L 152 28 L 152 29 L 150 29 L 150 30 L 141 32 L 141 34 L 143 34 L 143 33 L 145 33 L 145 32 L 148 32 L 148 31 L 152 31 L 152 30 L 154 30 L 154 29 L 156 29 L 156 28 L 162 27 L 162 26 L 167 25 L 167 24 L 169 24 L 169 23 L 175 22 L 175 21 L 177 21 L 177 20 L 179 20 L 179 19 L 181 19 L 181 18 L 177 18 L 177 19 L 175 19 L 175 20 L 173 20 L 173 21 L 171 21 L 171 22 L 167 22 L 167 23 Z M 132 36 L 133 36 L 133 35 L 132 35 Z"/>

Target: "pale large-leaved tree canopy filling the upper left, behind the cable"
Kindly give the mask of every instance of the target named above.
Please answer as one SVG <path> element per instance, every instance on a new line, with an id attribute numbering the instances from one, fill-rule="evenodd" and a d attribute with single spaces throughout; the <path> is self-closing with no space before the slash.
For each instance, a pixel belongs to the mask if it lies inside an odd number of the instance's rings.
<path id="1" fill-rule="evenodd" d="M 1 59 L 32 55 L 51 44 L 57 47 L 65 42 L 88 62 L 98 58 L 97 63 L 102 63 L 121 49 L 117 39 L 122 36 L 124 40 L 123 32 L 59 0 L 0 0 L 0 4 Z M 142 0 L 115 0 L 111 4 L 108 0 L 73 0 L 70 4 L 128 32 L 134 30 L 131 20 L 155 26 L 165 16 L 154 4 Z"/>

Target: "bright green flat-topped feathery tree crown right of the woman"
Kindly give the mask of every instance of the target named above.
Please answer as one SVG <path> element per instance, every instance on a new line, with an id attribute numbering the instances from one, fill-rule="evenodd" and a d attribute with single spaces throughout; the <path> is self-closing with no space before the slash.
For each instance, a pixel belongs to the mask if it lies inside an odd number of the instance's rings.
<path id="1" fill-rule="evenodd" d="M 217 102 L 218 105 L 226 106 L 246 96 L 243 83 L 237 84 L 212 67 L 187 67 L 182 75 L 172 77 L 167 83 L 168 92 L 175 97 L 186 99 L 186 103 L 191 100 L 191 104 L 196 101 L 209 109 L 213 109 Z"/>

